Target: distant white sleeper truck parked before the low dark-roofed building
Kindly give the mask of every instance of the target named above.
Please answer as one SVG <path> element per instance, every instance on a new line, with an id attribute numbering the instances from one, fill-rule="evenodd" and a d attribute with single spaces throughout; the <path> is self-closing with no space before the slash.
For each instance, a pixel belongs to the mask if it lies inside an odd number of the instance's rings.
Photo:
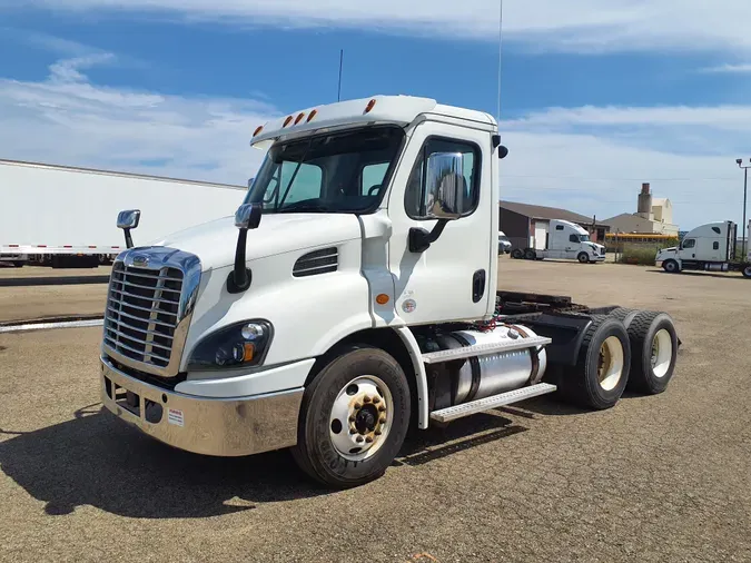
<path id="1" fill-rule="evenodd" d="M 605 247 L 590 240 L 590 234 L 579 225 L 562 220 L 537 223 L 530 246 L 514 248 L 511 257 L 516 259 L 579 260 L 582 264 L 605 261 Z"/>

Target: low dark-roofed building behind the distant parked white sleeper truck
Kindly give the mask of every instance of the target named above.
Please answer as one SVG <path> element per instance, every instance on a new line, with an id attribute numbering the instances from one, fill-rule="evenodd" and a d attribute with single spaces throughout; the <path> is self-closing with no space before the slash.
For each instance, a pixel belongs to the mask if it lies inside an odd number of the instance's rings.
<path id="1" fill-rule="evenodd" d="M 604 244 L 610 227 L 594 217 L 586 217 L 567 209 L 544 207 L 538 205 L 517 204 L 515 201 L 498 201 L 498 228 L 502 230 L 513 248 L 531 246 L 531 239 L 536 230 L 545 230 L 552 219 L 571 221 L 584 228 L 593 241 Z"/>

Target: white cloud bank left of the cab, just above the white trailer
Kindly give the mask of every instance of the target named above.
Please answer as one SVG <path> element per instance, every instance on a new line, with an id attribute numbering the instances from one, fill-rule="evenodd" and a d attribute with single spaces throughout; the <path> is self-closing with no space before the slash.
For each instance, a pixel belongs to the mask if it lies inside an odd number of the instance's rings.
<path id="1" fill-rule="evenodd" d="M 0 79 L 0 156 L 245 184 L 253 130 L 277 111 L 254 100 L 166 96 L 91 83 L 111 55 L 66 59 L 39 82 Z"/>

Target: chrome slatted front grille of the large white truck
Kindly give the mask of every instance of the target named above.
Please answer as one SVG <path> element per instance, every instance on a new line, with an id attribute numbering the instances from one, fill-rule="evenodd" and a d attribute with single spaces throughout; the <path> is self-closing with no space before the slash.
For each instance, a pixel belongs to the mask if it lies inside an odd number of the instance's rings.
<path id="1" fill-rule="evenodd" d="M 126 266 L 110 277 L 105 344 L 132 360 L 164 369 L 170 364 L 179 324 L 182 271 Z"/>

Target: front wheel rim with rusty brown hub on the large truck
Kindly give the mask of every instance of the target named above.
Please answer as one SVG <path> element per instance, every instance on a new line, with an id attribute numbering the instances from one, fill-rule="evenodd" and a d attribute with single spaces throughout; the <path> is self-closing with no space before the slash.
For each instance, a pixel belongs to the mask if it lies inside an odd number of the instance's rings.
<path id="1" fill-rule="evenodd" d="M 328 432 L 337 453 L 359 462 L 375 455 L 388 437 L 394 419 L 394 399 L 386 384 L 375 375 L 362 375 L 347 383 L 336 396 Z"/>

